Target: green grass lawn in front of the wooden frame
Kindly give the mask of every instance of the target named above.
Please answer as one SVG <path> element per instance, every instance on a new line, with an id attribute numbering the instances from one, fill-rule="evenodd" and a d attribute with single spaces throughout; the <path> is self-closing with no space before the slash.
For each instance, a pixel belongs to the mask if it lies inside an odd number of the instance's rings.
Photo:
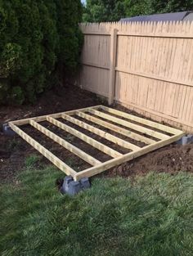
<path id="1" fill-rule="evenodd" d="M 192 174 L 95 178 L 70 197 L 61 171 L 27 165 L 0 188 L 2 256 L 193 255 Z"/>

